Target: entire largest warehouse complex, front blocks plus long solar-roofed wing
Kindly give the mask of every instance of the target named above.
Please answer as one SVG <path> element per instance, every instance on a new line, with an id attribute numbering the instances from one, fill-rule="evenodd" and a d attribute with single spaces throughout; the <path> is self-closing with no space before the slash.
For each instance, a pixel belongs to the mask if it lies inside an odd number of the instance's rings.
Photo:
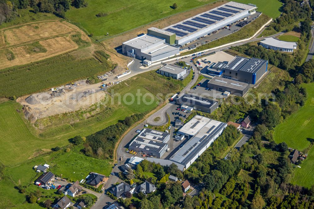
<path id="1" fill-rule="evenodd" d="M 149 28 L 147 34 L 122 43 L 122 53 L 157 62 L 179 54 L 179 46 L 250 16 L 256 9 L 256 6 L 228 2 L 164 29 Z"/>

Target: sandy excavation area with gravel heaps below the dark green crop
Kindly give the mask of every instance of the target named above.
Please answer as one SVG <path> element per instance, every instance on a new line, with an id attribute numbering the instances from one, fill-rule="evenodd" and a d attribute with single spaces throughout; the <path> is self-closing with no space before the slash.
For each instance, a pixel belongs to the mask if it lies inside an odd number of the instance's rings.
<path id="1" fill-rule="evenodd" d="M 46 91 L 24 97 L 16 101 L 24 106 L 26 119 L 34 123 L 39 118 L 88 108 L 105 98 L 105 91 L 98 84 L 87 84 L 86 80 L 65 85 L 57 91 Z"/>

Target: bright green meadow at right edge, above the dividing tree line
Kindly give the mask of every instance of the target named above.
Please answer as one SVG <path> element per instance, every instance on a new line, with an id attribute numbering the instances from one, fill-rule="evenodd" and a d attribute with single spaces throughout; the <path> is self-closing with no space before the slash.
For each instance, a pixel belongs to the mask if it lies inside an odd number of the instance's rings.
<path id="1" fill-rule="evenodd" d="M 303 87 L 308 94 L 306 104 L 274 130 L 277 143 L 286 142 L 289 147 L 300 151 L 308 147 L 314 138 L 314 83 L 303 84 Z"/>

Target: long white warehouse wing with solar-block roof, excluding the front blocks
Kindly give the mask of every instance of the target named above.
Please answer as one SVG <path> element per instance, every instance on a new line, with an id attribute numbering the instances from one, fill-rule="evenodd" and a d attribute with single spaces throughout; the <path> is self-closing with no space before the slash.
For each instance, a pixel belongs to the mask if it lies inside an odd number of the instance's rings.
<path id="1" fill-rule="evenodd" d="M 183 46 L 199 37 L 225 27 L 255 13 L 255 5 L 228 2 L 192 18 L 173 24 L 163 30 L 176 34 L 175 43 Z"/>

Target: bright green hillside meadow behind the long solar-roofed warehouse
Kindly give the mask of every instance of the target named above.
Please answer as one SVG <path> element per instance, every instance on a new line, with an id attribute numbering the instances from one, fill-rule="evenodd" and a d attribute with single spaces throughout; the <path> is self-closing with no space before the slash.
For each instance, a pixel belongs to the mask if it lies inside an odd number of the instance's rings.
<path id="1" fill-rule="evenodd" d="M 178 0 L 177 9 L 172 9 L 172 2 L 166 0 L 121 0 L 114 4 L 109 0 L 86 0 L 88 6 L 85 8 L 71 8 L 66 12 L 66 17 L 73 23 L 84 28 L 94 36 L 105 37 L 123 33 L 125 31 L 148 24 L 155 20 L 163 19 L 176 13 L 184 12 L 213 3 L 215 0 Z M 256 4 L 258 11 L 276 18 L 280 15 L 279 8 L 282 6 L 278 0 L 235 0 L 239 3 Z M 96 17 L 98 13 L 105 13 L 103 17 Z M 188 17 L 187 17 L 188 18 Z"/>

